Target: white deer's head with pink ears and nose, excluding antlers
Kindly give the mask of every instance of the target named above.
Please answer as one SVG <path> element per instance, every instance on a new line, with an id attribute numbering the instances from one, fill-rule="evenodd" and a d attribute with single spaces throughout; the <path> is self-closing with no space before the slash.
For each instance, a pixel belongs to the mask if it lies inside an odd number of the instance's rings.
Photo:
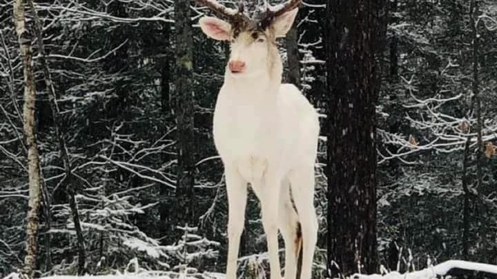
<path id="1" fill-rule="evenodd" d="M 199 25 L 208 37 L 231 43 L 226 72 L 231 76 L 271 74 L 281 68 L 276 38 L 284 37 L 291 28 L 298 9 L 275 18 L 262 28 L 257 21 L 231 24 L 215 17 L 202 17 Z M 278 64 L 279 63 L 279 64 Z"/>

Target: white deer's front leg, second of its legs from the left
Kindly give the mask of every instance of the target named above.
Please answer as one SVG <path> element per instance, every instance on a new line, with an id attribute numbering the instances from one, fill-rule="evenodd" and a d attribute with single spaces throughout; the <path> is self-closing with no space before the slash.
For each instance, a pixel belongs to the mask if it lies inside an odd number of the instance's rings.
<path id="1" fill-rule="evenodd" d="M 270 279 L 281 279 L 280 256 L 278 255 L 278 210 L 280 205 L 281 179 L 268 177 L 262 185 L 261 209 L 262 225 L 266 232 L 267 248 L 269 254 L 269 265 L 271 269 Z M 288 278 L 292 279 L 292 278 Z"/>

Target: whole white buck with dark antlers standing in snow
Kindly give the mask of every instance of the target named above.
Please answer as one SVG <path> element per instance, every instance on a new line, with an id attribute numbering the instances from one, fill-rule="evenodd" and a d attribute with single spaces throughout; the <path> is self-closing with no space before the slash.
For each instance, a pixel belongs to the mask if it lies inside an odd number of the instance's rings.
<path id="1" fill-rule="evenodd" d="M 286 247 L 285 278 L 296 278 L 302 249 L 301 278 L 310 279 L 318 231 L 313 205 L 318 113 L 297 87 L 281 83 L 275 41 L 291 28 L 300 0 L 255 19 L 243 14 L 243 6 L 233 10 L 214 0 L 197 1 L 228 19 L 202 17 L 202 31 L 231 42 L 214 112 L 214 141 L 224 163 L 229 205 L 226 279 L 236 278 L 249 183 L 261 203 L 271 279 L 282 278 L 278 229 Z"/>

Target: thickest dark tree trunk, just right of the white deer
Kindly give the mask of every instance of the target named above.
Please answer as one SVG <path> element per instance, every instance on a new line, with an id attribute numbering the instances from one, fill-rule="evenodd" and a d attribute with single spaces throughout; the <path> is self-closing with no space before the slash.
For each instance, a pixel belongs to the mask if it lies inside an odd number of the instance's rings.
<path id="1" fill-rule="evenodd" d="M 372 273 L 378 266 L 375 53 L 383 5 L 382 0 L 327 3 L 327 256 L 334 278 Z"/>

